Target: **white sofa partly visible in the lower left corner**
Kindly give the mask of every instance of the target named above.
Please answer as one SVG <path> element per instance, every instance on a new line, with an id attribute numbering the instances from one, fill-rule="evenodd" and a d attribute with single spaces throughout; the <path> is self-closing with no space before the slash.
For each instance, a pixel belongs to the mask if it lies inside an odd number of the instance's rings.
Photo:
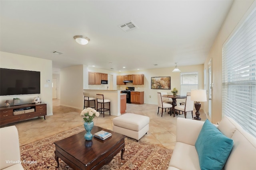
<path id="1" fill-rule="evenodd" d="M 0 128 L 0 170 L 24 170 L 20 163 L 17 128 L 15 126 Z"/>

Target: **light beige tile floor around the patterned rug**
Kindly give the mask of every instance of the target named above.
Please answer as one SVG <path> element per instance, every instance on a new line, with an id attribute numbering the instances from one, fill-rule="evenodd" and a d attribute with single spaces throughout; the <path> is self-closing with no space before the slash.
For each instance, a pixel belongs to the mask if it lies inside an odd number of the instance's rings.
<path id="1" fill-rule="evenodd" d="M 140 140 L 146 143 L 173 149 L 176 142 L 176 119 L 184 115 L 173 117 L 166 112 L 157 114 L 158 106 L 154 104 L 127 104 L 126 113 L 136 113 L 150 117 L 149 131 Z M 161 110 L 161 109 L 160 109 Z M 42 117 L 30 119 L 18 123 L 16 125 L 19 133 L 20 145 L 25 145 L 45 137 L 52 136 L 56 133 L 66 131 L 73 127 L 83 125 L 81 110 L 70 107 L 60 106 L 60 100 L 53 100 L 53 115 L 46 116 L 46 120 Z M 193 111 L 195 116 L 196 111 Z M 200 110 L 201 121 L 206 120 L 205 113 Z M 105 113 L 105 117 L 100 114 L 94 118 L 94 125 L 112 130 L 112 119 L 114 115 Z M 187 119 L 192 119 L 191 112 L 187 113 Z M 196 121 L 196 120 L 195 120 Z M 193 129 L 188 129 L 193 133 Z"/>

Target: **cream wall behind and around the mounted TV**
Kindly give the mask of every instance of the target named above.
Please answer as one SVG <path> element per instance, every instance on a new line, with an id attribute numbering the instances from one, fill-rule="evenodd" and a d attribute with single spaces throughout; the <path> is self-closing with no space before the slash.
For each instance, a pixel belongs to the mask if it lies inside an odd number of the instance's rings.
<path id="1" fill-rule="evenodd" d="M 4 106 L 6 100 L 10 100 L 10 105 L 13 105 L 13 98 L 20 98 L 25 104 L 32 103 L 34 97 L 40 97 L 41 101 L 47 104 L 47 115 L 52 115 L 52 61 L 0 51 L 0 67 L 40 71 L 41 82 L 40 94 L 0 96 L 0 106 Z M 46 80 L 50 80 L 50 83 Z"/>

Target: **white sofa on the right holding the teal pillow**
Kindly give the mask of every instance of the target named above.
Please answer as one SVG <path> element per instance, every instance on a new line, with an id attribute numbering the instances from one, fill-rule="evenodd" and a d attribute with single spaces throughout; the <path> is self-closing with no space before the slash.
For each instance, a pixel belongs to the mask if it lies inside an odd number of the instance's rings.
<path id="1" fill-rule="evenodd" d="M 176 146 L 168 170 L 200 170 L 195 143 L 203 124 L 177 118 Z M 216 127 L 234 143 L 223 170 L 256 170 L 256 138 L 230 117 L 223 117 Z"/>

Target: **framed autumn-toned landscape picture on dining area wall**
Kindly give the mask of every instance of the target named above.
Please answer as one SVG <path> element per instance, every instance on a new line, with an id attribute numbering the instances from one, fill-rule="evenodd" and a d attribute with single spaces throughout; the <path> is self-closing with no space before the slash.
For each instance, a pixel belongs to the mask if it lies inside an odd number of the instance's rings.
<path id="1" fill-rule="evenodd" d="M 171 89 L 171 77 L 151 77 L 151 89 Z"/>

